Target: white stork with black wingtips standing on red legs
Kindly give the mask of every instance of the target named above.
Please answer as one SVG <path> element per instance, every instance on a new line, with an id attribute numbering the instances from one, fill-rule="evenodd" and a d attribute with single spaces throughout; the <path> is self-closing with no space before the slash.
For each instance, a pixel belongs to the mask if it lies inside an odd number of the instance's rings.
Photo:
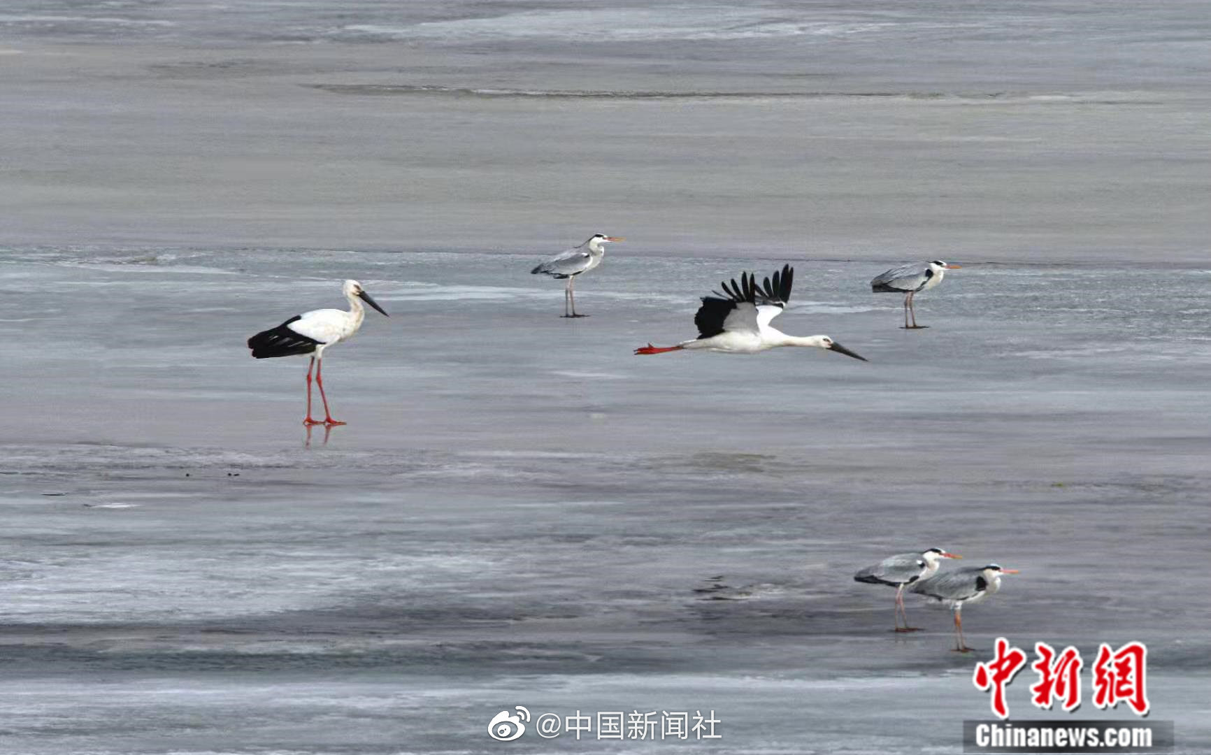
<path id="1" fill-rule="evenodd" d="M 321 423 L 318 420 L 311 419 L 312 367 L 315 367 L 315 382 L 320 386 L 320 398 L 323 400 L 322 423 L 328 427 L 344 425 L 344 422 L 332 419 L 332 413 L 328 411 L 328 397 L 323 393 L 323 350 L 349 340 L 357 333 L 366 317 L 362 301 L 381 312 L 384 317 L 390 317 L 357 281 L 345 281 L 342 290 L 349 299 L 348 312 L 344 310 L 311 310 L 295 315 L 276 328 L 262 330 L 248 339 L 248 348 L 252 350 L 252 356 L 257 359 L 311 355 L 311 362 L 306 368 L 306 419 L 303 420 L 306 426 Z"/>

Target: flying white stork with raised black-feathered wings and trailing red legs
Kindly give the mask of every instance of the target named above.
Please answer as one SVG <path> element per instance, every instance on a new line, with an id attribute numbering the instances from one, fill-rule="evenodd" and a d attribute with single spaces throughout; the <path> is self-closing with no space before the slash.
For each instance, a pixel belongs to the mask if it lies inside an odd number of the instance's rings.
<path id="1" fill-rule="evenodd" d="M 713 296 L 702 296 L 702 306 L 694 315 L 698 325 L 698 338 L 682 341 L 676 346 L 641 346 L 637 355 L 665 353 L 683 348 L 706 348 L 727 353 L 757 353 L 777 346 L 814 346 L 843 353 L 866 362 L 827 335 L 787 335 L 770 327 L 770 321 L 782 313 L 791 298 L 791 282 L 794 269 L 782 266 L 782 272 L 774 272 L 774 281 L 765 278 L 764 287 L 757 287 L 757 279 L 751 272 L 741 273 L 740 283 L 735 278 L 731 288 L 727 281 L 722 283 L 724 293 L 711 292 Z"/>

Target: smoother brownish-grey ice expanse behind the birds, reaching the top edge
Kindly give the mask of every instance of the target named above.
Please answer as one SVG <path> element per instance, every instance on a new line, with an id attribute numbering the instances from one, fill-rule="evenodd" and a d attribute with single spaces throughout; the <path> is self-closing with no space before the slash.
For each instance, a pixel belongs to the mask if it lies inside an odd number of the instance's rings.
<path id="1" fill-rule="evenodd" d="M 1198 263 L 1204 0 L 8 0 L 0 243 Z"/>

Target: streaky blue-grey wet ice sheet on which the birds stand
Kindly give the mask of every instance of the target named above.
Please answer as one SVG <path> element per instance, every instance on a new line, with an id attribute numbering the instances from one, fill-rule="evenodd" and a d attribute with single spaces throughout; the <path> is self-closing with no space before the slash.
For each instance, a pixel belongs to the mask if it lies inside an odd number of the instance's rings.
<path id="1" fill-rule="evenodd" d="M 641 358 L 742 267 L 626 249 L 580 321 L 534 257 L 6 250 L 5 748 L 487 753 L 523 704 L 953 753 L 988 708 L 947 613 L 909 601 L 928 632 L 896 636 L 851 580 L 936 544 L 1022 570 L 972 645 L 1146 641 L 1153 717 L 1206 749 L 1211 271 L 970 265 L 903 332 L 866 287 L 894 260 L 792 260 L 777 324 L 869 363 Z M 391 318 L 331 352 L 350 425 L 304 448 L 305 363 L 242 339 L 343 277 Z M 1017 717 L 1048 715 L 1029 674 Z"/>

